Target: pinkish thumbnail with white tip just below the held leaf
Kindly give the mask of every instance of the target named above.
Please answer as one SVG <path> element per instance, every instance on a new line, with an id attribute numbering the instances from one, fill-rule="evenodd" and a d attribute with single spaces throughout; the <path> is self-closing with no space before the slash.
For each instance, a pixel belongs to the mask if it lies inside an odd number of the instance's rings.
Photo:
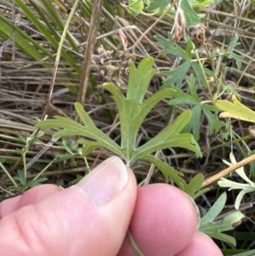
<path id="1" fill-rule="evenodd" d="M 111 156 L 77 183 L 94 204 L 111 200 L 127 184 L 127 168 L 117 156 Z"/>

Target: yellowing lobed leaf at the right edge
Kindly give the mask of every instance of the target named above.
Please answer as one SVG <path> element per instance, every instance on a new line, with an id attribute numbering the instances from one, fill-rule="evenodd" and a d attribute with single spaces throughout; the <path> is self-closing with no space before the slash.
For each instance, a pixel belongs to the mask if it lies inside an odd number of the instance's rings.
<path id="1" fill-rule="evenodd" d="M 247 122 L 255 122 L 255 111 L 241 104 L 241 102 L 236 99 L 235 95 L 232 96 L 232 102 L 217 100 L 215 105 L 218 109 L 224 111 L 219 115 L 221 118 L 231 117 Z"/>

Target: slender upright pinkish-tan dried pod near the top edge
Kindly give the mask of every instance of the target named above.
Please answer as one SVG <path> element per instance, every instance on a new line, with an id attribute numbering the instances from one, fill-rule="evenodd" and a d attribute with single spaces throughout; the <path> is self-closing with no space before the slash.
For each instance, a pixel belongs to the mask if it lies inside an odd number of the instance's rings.
<path id="1" fill-rule="evenodd" d="M 185 24 L 186 22 L 184 17 L 184 11 L 180 8 L 180 6 L 178 6 L 173 24 L 172 38 L 174 42 L 178 42 L 180 38 L 184 36 Z"/>

